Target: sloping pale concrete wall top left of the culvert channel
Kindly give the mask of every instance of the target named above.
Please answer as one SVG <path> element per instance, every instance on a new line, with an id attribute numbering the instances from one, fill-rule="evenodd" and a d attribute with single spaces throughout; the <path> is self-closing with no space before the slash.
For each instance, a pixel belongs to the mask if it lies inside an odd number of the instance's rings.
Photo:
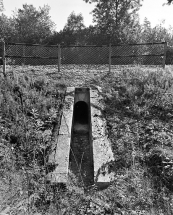
<path id="1" fill-rule="evenodd" d="M 53 148 L 49 156 L 48 164 L 55 165 L 54 171 L 47 175 L 47 180 L 52 184 L 67 183 L 68 181 L 74 90 L 73 87 L 67 88 L 59 135 L 55 138 L 56 148 Z"/>

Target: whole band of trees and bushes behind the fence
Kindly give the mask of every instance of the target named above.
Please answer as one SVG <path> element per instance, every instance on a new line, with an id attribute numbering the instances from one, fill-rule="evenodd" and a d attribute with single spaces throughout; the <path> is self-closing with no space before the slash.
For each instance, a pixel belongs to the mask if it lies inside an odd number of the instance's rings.
<path id="1" fill-rule="evenodd" d="M 173 29 L 161 22 L 154 28 L 145 19 L 140 24 L 137 11 L 142 0 L 85 0 L 95 3 L 95 25 L 86 27 L 82 14 L 72 12 L 63 30 L 56 31 L 48 5 L 36 9 L 24 4 L 12 18 L 0 15 L 0 35 L 6 42 L 62 45 L 107 45 L 109 42 L 139 43 L 167 41 L 173 46 Z"/>

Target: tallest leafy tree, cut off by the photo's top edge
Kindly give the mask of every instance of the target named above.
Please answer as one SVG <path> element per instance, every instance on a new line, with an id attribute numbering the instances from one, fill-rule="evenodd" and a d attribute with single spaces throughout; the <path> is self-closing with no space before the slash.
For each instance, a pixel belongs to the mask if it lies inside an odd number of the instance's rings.
<path id="1" fill-rule="evenodd" d="M 92 11 L 93 21 L 101 34 L 107 35 L 107 40 L 123 42 L 125 27 L 134 28 L 136 25 L 136 12 L 139 10 L 142 0 L 84 0 L 95 2 Z"/>

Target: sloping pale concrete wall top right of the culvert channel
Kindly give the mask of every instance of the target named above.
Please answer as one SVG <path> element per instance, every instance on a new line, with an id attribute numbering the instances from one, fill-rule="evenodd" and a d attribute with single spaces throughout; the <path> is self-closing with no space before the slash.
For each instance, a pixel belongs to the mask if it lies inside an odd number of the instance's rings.
<path id="1" fill-rule="evenodd" d="M 114 178 L 108 171 L 109 163 L 114 161 L 111 143 L 107 138 L 106 120 L 101 114 L 103 98 L 97 90 L 90 90 L 92 146 L 94 162 L 94 181 L 98 187 L 106 187 Z"/>

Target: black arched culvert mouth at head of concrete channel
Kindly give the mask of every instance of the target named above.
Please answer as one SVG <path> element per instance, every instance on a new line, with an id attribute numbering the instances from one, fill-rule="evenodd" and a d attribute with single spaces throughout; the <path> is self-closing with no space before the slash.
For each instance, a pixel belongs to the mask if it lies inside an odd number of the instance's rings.
<path id="1" fill-rule="evenodd" d="M 88 105 L 79 101 L 74 106 L 74 124 L 88 124 Z"/>

